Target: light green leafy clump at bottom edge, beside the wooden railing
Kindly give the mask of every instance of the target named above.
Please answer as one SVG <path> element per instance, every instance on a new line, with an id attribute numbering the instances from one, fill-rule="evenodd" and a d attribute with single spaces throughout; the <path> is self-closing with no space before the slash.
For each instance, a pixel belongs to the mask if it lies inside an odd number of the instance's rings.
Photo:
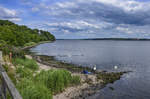
<path id="1" fill-rule="evenodd" d="M 22 79 L 17 84 L 17 88 L 23 99 L 52 99 L 52 94 L 48 88 L 29 79 Z"/>

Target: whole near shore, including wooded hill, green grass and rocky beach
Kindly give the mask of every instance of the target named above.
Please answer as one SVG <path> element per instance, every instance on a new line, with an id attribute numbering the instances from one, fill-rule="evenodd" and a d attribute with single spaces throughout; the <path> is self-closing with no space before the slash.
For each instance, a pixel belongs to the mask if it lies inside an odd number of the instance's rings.
<path id="1" fill-rule="evenodd" d="M 38 56 L 30 48 L 55 41 L 43 30 L 0 20 L 0 50 L 8 76 L 23 99 L 85 99 L 127 72 L 93 72 L 91 68 Z M 88 70 L 92 74 L 82 74 Z M 9 96 L 8 96 L 9 97 Z"/>

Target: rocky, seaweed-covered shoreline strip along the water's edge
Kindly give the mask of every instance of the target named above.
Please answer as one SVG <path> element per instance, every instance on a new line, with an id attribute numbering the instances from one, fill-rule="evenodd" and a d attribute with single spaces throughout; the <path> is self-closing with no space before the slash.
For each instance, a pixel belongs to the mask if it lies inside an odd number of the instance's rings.
<path id="1" fill-rule="evenodd" d="M 86 78 L 82 81 L 82 85 L 80 85 L 78 88 L 75 86 L 74 90 L 68 89 L 69 91 L 67 90 L 54 96 L 54 99 L 61 99 L 62 97 L 65 97 L 67 99 L 86 99 L 89 96 L 96 94 L 100 89 L 104 88 L 107 84 L 119 80 L 123 74 L 128 73 L 128 72 L 106 72 L 106 71 L 93 72 L 91 68 L 76 66 L 74 64 L 57 61 L 52 56 L 36 55 L 35 53 L 32 53 L 32 57 L 40 64 L 50 66 L 51 68 L 66 69 L 69 70 L 72 74 L 82 75 L 81 79 Z M 88 70 L 92 72 L 92 74 L 90 75 L 82 74 L 83 70 Z M 93 80 L 93 78 L 95 79 Z"/>

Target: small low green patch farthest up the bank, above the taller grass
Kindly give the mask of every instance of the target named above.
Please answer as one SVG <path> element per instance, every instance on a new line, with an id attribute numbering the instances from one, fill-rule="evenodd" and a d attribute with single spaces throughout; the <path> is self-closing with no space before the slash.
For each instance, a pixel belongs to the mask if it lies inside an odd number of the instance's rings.
<path id="1" fill-rule="evenodd" d="M 39 67 L 35 60 L 33 59 L 21 59 L 21 58 L 15 58 L 13 59 L 13 64 L 15 65 L 22 65 L 24 68 L 29 68 L 31 70 L 37 70 Z"/>

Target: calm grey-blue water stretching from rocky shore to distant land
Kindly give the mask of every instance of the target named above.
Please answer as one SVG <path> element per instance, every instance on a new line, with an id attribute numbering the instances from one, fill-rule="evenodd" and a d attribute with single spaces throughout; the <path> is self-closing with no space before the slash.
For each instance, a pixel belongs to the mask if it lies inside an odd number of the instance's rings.
<path id="1" fill-rule="evenodd" d="M 150 41 L 56 40 L 31 51 L 100 70 L 132 71 L 91 99 L 150 99 Z"/>

